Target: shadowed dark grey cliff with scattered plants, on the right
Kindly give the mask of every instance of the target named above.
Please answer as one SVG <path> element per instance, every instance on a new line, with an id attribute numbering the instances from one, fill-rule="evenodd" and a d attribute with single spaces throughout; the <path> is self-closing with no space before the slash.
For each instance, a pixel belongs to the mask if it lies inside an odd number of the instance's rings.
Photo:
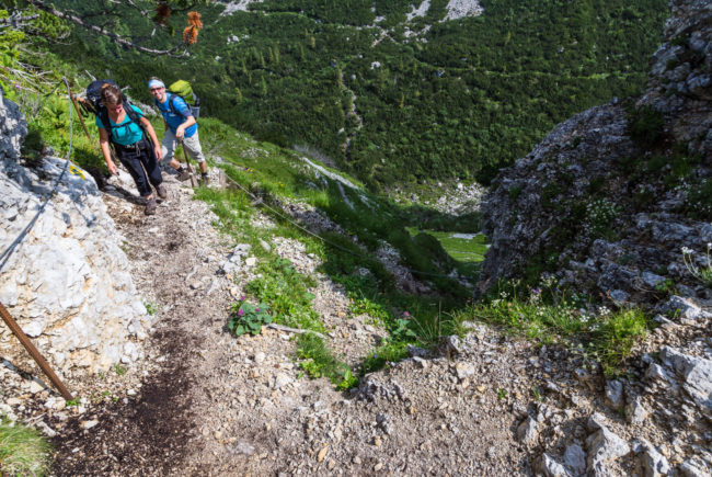
<path id="1" fill-rule="evenodd" d="M 664 39 L 641 98 L 570 118 L 499 173 L 483 291 L 551 273 L 616 302 L 712 298 L 690 271 L 712 242 L 712 3 L 673 2 Z"/>

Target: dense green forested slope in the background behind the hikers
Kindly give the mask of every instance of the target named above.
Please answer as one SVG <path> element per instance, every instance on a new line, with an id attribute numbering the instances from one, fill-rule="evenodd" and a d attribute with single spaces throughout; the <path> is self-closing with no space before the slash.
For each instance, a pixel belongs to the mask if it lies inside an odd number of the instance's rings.
<path id="1" fill-rule="evenodd" d="M 79 29 L 78 41 L 51 48 L 143 102 L 149 76 L 186 79 L 203 115 L 314 151 L 371 189 L 486 184 L 556 123 L 639 93 L 667 15 L 664 0 L 483 0 L 482 15 L 441 22 L 447 1 L 433 0 L 409 22 L 418 5 L 265 0 L 220 15 L 225 5 L 209 3 L 197 8 L 205 29 L 186 57 L 147 56 Z M 184 19 L 172 21 L 174 35 L 150 43 L 176 43 Z M 128 12 L 123 22 L 113 30 L 153 29 Z"/>

